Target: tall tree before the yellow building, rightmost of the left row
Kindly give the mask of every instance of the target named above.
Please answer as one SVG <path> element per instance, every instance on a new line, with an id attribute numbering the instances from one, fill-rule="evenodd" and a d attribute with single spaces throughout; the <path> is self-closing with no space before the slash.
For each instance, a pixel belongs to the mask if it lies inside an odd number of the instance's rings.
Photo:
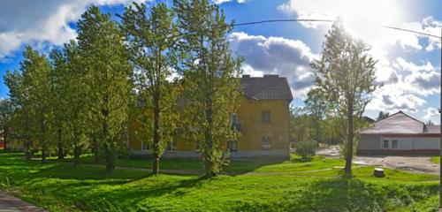
<path id="1" fill-rule="evenodd" d="M 208 0 L 175 0 L 181 34 L 189 57 L 183 69 L 194 138 L 200 142 L 206 176 L 217 175 L 225 163 L 225 141 L 234 140 L 230 116 L 238 102 L 241 59 L 232 57 L 226 34 L 232 25 Z"/>

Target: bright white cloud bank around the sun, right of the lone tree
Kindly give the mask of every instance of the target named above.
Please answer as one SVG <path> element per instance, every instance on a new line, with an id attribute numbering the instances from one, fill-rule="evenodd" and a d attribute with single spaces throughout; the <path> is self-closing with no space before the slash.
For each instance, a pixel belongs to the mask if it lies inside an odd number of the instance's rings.
<path id="1" fill-rule="evenodd" d="M 395 112 L 406 110 L 426 113 L 427 97 L 440 93 L 440 72 L 429 61 L 412 63 L 391 57 L 389 49 L 399 45 L 402 51 L 429 53 L 440 49 L 438 38 L 395 31 L 383 26 L 401 27 L 427 34 L 440 34 L 442 21 L 429 16 L 419 21 L 404 21 L 408 11 L 400 0 L 287 0 L 279 11 L 298 19 L 342 19 L 349 34 L 370 44 L 370 54 L 378 60 L 377 83 L 384 84 L 373 95 L 368 110 Z M 300 22 L 301 26 L 324 33 L 329 23 Z M 423 39 L 427 42 L 420 42 Z M 420 111 L 419 111 L 420 110 Z M 434 117 L 433 117 L 434 120 Z"/>

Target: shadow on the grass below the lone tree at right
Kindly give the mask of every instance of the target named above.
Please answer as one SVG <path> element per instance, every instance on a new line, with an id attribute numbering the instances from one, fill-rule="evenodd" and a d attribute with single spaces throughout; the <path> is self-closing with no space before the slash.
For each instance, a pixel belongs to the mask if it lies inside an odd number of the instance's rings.
<path id="1" fill-rule="evenodd" d="M 242 202 L 236 211 L 391 211 L 438 193 L 438 185 L 381 185 L 354 178 L 316 180 L 277 203 Z"/>

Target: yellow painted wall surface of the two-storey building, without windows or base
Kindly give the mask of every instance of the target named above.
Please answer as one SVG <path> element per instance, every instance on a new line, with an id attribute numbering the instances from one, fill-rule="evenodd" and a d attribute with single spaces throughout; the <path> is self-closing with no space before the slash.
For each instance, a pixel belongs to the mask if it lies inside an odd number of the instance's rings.
<path id="1" fill-rule="evenodd" d="M 271 122 L 263 124 L 262 111 L 271 111 Z M 289 147 L 289 102 L 286 100 L 252 100 L 240 96 L 240 108 L 237 111 L 242 125 L 238 150 L 262 150 L 262 138 L 270 137 L 271 150 Z M 135 127 L 134 127 L 135 126 Z M 136 128 L 136 124 L 131 129 Z M 195 141 L 178 140 L 174 143 L 178 151 L 194 151 Z M 129 148 L 141 150 L 141 140 L 131 130 Z"/>

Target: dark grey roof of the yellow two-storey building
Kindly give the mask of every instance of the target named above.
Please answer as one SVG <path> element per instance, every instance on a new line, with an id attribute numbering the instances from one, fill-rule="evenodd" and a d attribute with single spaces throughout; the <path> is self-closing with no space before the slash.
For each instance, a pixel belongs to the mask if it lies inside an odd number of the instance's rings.
<path id="1" fill-rule="evenodd" d="M 265 74 L 263 77 L 243 75 L 240 83 L 242 93 L 251 99 L 288 101 L 293 99 L 287 79 L 278 75 Z"/>

